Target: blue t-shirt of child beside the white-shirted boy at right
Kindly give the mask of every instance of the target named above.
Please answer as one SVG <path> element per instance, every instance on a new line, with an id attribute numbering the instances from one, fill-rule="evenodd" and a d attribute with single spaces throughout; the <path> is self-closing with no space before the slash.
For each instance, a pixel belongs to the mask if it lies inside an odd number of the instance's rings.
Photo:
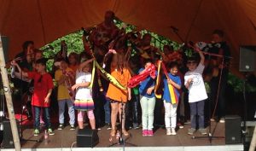
<path id="1" fill-rule="evenodd" d="M 172 79 L 173 82 L 175 82 L 176 84 L 181 85 L 181 79 L 178 75 L 173 76 L 171 73 L 168 73 L 168 77 Z M 174 88 L 174 91 L 177 95 L 177 99 L 179 99 L 179 92 L 177 90 L 177 88 Z M 164 95 L 163 95 L 163 100 L 166 100 L 166 102 L 171 102 L 171 96 L 170 96 L 170 92 L 168 89 L 168 83 L 167 83 L 167 79 L 166 77 L 164 78 Z"/>

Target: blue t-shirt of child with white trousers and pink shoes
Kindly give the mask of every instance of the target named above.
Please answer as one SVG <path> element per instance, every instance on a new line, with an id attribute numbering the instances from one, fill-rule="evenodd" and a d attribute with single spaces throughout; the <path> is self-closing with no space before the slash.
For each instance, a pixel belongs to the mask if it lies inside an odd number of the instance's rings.
<path id="1" fill-rule="evenodd" d="M 138 73 L 141 73 L 144 70 L 144 68 L 141 68 Z M 157 75 L 157 72 L 155 72 Z M 154 90 L 152 90 L 152 93 L 150 95 L 147 94 L 147 90 L 150 87 L 154 86 L 154 78 L 151 78 L 148 76 L 144 81 L 140 83 L 139 92 L 141 96 L 146 96 L 148 98 L 154 97 Z"/>

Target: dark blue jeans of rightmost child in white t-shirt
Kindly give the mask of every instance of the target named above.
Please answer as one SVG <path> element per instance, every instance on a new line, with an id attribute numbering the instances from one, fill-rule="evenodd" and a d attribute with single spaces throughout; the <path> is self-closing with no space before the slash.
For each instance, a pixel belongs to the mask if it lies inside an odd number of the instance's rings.
<path id="1" fill-rule="evenodd" d="M 205 101 L 200 102 L 189 102 L 190 106 L 190 120 L 191 128 L 196 129 L 196 115 L 198 115 L 198 127 L 200 129 L 205 128 L 205 114 L 204 107 Z"/>

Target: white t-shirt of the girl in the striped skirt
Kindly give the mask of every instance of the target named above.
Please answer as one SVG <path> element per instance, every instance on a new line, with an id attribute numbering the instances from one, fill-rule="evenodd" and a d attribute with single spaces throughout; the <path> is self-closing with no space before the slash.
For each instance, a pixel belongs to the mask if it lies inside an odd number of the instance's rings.
<path id="1" fill-rule="evenodd" d="M 76 84 L 81 84 L 84 82 L 90 82 L 91 80 L 91 73 L 84 73 L 82 71 L 76 72 Z M 92 99 L 92 92 L 90 88 L 79 87 L 76 90 L 76 97 L 75 99 L 84 100 L 84 99 Z"/>

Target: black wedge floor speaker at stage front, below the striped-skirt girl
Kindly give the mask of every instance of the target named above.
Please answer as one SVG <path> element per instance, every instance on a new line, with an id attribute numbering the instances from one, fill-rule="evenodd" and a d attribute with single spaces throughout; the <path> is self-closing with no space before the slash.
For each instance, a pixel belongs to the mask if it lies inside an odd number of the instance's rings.
<path id="1" fill-rule="evenodd" d="M 93 148 L 99 143 L 97 131 L 89 129 L 79 129 L 77 133 L 77 147 Z"/>

